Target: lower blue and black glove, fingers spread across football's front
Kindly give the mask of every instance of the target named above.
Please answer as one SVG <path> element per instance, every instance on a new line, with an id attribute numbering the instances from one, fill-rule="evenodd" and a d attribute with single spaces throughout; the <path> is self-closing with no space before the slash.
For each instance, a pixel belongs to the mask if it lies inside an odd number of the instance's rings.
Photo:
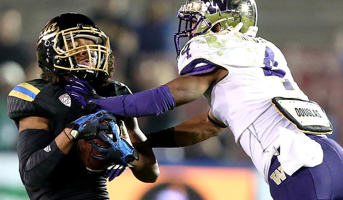
<path id="1" fill-rule="evenodd" d="M 129 142 L 119 136 L 117 125 L 114 121 L 109 121 L 108 125 L 111 127 L 113 139 L 111 139 L 103 131 L 98 132 L 97 139 L 105 142 L 107 146 L 100 146 L 94 140 L 91 140 L 93 149 L 102 155 L 91 154 L 91 157 L 98 161 L 109 161 L 115 164 L 131 167 L 129 164 L 134 160 L 138 160 L 138 152 L 133 148 Z"/>

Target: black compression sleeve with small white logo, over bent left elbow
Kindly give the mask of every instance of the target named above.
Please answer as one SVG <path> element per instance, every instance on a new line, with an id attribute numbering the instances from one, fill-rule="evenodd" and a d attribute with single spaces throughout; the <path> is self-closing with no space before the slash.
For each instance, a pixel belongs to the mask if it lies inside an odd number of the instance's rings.
<path id="1" fill-rule="evenodd" d="M 66 156 L 57 147 L 55 138 L 51 138 L 50 131 L 42 129 L 21 131 L 17 152 L 19 173 L 25 186 L 38 186 L 46 183 L 55 167 Z"/>

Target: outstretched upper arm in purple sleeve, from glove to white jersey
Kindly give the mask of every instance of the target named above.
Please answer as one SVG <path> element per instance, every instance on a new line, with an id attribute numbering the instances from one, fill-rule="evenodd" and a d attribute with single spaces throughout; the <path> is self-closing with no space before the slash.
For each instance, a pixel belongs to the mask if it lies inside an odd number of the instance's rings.
<path id="1" fill-rule="evenodd" d="M 155 89 L 130 95 L 92 99 L 101 109 L 125 117 L 158 115 L 199 98 L 227 71 L 217 68 L 200 75 L 183 75 Z"/>

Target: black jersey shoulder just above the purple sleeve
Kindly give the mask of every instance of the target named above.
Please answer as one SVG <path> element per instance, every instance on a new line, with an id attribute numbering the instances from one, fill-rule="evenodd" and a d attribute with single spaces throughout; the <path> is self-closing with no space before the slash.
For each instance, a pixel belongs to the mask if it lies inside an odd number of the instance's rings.
<path id="1" fill-rule="evenodd" d="M 95 91 L 98 95 L 102 97 L 132 94 L 129 87 L 119 81 L 110 81 L 108 85 L 96 88 Z"/>

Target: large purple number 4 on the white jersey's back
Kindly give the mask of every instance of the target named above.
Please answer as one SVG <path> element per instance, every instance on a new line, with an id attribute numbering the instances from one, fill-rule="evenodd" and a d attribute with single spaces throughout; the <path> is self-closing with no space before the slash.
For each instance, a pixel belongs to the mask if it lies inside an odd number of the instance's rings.
<path id="1" fill-rule="evenodd" d="M 277 61 L 274 60 L 274 52 L 271 48 L 265 48 L 265 57 L 263 64 L 263 72 L 265 76 L 277 76 L 283 79 L 282 83 L 286 90 L 294 90 L 291 82 L 288 79 L 284 79 L 286 74 L 282 69 L 277 68 Z"/>

